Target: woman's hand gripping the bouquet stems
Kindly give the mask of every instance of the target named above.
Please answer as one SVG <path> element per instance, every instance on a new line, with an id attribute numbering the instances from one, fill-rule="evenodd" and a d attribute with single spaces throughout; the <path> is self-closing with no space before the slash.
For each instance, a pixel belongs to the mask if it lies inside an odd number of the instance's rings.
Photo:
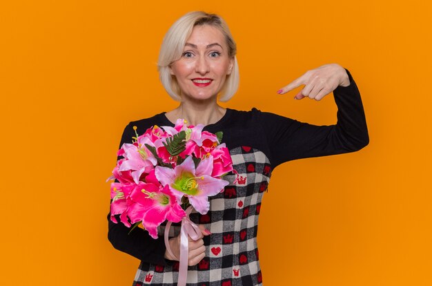
<path id="1" fill-rule="evenodd" d="M 199 261 L 206 256 L 205 251 L 206 247 L 204 247 L 204 240 L 202 239 L 204 236 L 210 235 L 210 231 L 204 228 L 204 225 L 198 225 L 199 229 L 201 230 L 201 238 L 199 240 L 193 240 L 188 236 L 188 242 L 189 242 L 189 255 L 188 255 L 188 265 L 193 266 L 197 265 Z M 176 236 L 175 238 L 170 238 L 169 240 L 171 251 L 173 251 L 173 254 L 175 255 L 175 258 L 171 256 L 168 252 L 168 250 L 165 251 L 165 258 L 168 260 L 179 260 L 180 258 L 180 235 Z"/>

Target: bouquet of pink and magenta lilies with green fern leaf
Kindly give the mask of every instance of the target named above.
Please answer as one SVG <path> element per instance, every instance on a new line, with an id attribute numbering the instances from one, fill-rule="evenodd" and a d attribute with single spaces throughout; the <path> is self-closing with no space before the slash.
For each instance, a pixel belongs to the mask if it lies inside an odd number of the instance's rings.
<path id="1" fill-rule="evenodd" d="M 157 238 L 162 222 L 180 222 L 190 205 L 205 214 L 209 196 L 224 191 L 228 181 L 222 176 L 233 171 L 233 162 L 222 132 L 202 131 L 204 126 L 186 125 L 177 120 L 174 127 L 153 126 L 132 143 L 121 146 L 111 183 L 111 220 L 115 215 L 127 227 L 142 224 Z M 189 212 L 189 211 L 188 211 Z"/>

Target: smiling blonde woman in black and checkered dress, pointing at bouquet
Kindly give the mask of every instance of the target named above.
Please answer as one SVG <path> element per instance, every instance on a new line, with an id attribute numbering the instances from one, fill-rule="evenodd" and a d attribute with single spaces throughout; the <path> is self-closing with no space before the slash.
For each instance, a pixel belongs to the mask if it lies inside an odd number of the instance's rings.
<path id="1" fill-rule="evenodd" d="M 333 91 L 338 107 L 333 126 L 313 126 L 255 108 L 222 108 L 217 97 L 230 99 L 238 86 L 235 54 L 235 41 L 220 17 L 204 12 L 181 17 L 168 30 L 158 63 L 162 84 L 180 104 L 173 111 L 130 122 L 121 137 L 120 146 L 135 135 L 132 126 L 143 133 L 153 125 L 173 126 L 177 118 L 224 133 L 236 172 L 224 177 L 230 184 L 210 199 L 206 215 L 190 215 L 202 229 L 202 238 L 189 240 L 188 285 L 261 285 L 257 221 L 271 171 L 289 160 L 357 151 L 369 142 L 360 93 L 348 71 L 337 64 L 309 70 L 277 91 L 284 94 L 304 85 L 295 98 L 315 100 Z M 176 284 L 178 263 L 166 251 L 163 238 L 154 240 L 142 229 L 128 234 L 124 225 L 108 221 L 112 245 L 141 260 L 134 285 Z M 176 257 L 178 231 L 174 228 L 169 240 Z"/>

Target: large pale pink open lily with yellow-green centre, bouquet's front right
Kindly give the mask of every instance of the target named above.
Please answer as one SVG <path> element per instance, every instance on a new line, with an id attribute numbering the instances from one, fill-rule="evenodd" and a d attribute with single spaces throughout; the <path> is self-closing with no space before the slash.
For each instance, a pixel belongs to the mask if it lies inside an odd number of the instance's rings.
<path id="1" fill-rule="evenodd" d="M 199 162 L 196 170 L 192 157 L 188 157 L 174 169 L 156 166 L 155 176 L 164 187 L 169 186 L 179 203 L 186 196 L 199 213 L 205 214 L 210 209 L 208 197 L 215 196 L 228 185 L 226 180 L 213 178 L 212 171 L 213 156 Z"/>

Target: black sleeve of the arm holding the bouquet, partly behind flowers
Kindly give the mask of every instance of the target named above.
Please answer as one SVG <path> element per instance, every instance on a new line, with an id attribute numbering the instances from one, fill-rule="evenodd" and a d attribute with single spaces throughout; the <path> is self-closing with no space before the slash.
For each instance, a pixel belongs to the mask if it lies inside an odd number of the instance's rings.
<path id="1" fill-rule="evenodd" d="M 119 148 L 125 142 L 131 143 L 132 136 L 135 136 L 135 132 L 132 126 L 128 124 L 121 136 Z M 108 240 L 110 240 L 115 249 L 124 251 L 146 263 L 166 265 L 164 258 L 166 247 L 163 237 L 154 239 L 148 235 L 147 231 L 139 227 L 129 233 L 130 228 L 120 222 L 119 216 L 116 216 L 116 219 L 117 223 L 112 222 L 110 220 L 110 213 L 108 213 Z"/>

